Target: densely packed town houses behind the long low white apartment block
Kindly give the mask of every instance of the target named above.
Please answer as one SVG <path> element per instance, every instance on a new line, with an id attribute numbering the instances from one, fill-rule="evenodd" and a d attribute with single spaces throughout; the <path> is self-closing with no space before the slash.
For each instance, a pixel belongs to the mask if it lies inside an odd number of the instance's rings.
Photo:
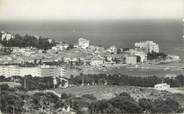
<path id="1" fill-rule="evenodd" d="M 134 49 L 123 51 L 123 49 L 118 49 L 114 45 L 107 49 L 100 46 L 90 45 L 89 40 L 79 38 L 78 44 L 75 44 L 71 50 L 67 50 L 68 47 L 69 44 L 63 42 L 59 42 L 56 46 L 53 46 L 47 51 L 38 50 L 33 47 L 12 47 L 12 55 L 8 55 L 7 57 L 9 63 L 11 63 L 14 58 L 19 58 L 16 60 L 19 64 L 41 60 L 45 62 L 83 62 L 84 64 L 93 66 L 118 63 L 136 65 L 147 61 L 147 53 L 159 52 L 158 44 L 153 41 L 136 42 Z M 1 56 L 0 60 L 3 62 L 7 59 L 5 57 L 6 56 Z"/>

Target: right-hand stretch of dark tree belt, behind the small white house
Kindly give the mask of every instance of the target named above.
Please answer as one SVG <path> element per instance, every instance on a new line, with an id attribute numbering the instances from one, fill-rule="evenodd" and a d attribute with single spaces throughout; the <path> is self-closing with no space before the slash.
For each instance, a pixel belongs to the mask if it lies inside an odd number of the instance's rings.
<path id="1" fill-rule="evenodd" d="M 76 77 L 71 77 L 71 82 L 75 85 L 90 84 L 90 85 L 126 85 L 126 86 L 140 86 L 140 87 L 154 87 L 155 84 L 166 82 L 171 85 L 171 87 L 183 87 L 184 86 L 184 76 L 178 75 L 176 78 L 160 78 L 157 76 L 149 77 L 134 77 L 122 74 L 81 74 Z"/>

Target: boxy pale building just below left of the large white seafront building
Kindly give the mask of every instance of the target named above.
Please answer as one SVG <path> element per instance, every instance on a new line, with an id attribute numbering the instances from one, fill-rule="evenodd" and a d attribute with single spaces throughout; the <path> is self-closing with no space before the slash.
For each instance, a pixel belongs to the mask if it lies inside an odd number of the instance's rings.
<path id="1" fill-rule="evenodd" d="M 135 55 L 126 55 L 125 56 L 125 63 L 130 65 L 136 65 L 137 64 L 137 56 Z"/>

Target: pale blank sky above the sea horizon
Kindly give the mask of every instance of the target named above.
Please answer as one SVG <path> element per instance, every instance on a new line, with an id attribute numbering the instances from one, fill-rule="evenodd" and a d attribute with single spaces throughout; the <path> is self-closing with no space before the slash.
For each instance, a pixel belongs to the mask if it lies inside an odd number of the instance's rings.
<path id="1" fill-rule="evenodd" d="M 0 20 L 182 17 L 184 17 L 184 0 L 0 0 Z"/>

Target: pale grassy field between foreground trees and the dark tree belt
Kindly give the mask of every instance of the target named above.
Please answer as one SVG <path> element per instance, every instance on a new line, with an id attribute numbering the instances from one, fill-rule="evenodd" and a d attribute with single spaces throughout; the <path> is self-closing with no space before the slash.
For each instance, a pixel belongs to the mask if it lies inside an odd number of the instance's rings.
<path id="1" fill-rule="evenodd" d="M 76 96 L 82 96 L 85 94 L 93 94 L 97 99 L 110 99 L 116 95 L 127 92 L 135 100 L 140 98 L 156 99 L 171 97 L 172 94 L 169 92 L 161 92 L 152 88 L 142 88 L 133 86 L 80 86 L 70 87 L 66 89 L 56 89 L 56 92 L 62 94 L 73 94 Z"/>

